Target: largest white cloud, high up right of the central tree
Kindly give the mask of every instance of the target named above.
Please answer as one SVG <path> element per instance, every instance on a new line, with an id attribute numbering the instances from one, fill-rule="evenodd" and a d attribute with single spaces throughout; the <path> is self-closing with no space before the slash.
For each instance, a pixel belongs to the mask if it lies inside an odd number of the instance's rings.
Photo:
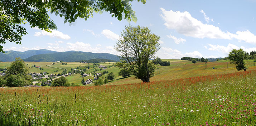
<path id="1" fill-rule="evenodd" d="M 225 33 L 219 29 L 219 27 L 203 24 L 192 17 L 189 12 L 184 11 L 166 11 L 160 8 L 162 11 L 161 17 L 163 17 L 164 25 L 169 29 L 174 29 L 178 33 L 185 36 L 191 36 L 195 38 L 222 38 L 231 39 L 228 33 Z"/>

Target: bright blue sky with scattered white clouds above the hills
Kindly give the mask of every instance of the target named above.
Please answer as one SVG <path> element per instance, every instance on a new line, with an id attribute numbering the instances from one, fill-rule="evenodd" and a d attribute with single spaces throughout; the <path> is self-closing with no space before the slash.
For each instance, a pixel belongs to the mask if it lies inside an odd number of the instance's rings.
<path id="1" fill-rule="evenodd" d="M 162 59 L 181 57 L 227 57 L 232 49 L 256 50 L 256 1 L 254 0 L 147 0 L 131 2 L 137 22 L 160 36 Z M 108 12 L 93 14 L 87 21 L 76 20 L 71 26 L 50 15 L 58 29 L 48 33 L 25 25 L 28 32 L 21 45 L 7 42 L 4 50 L 83 51 L 119 54 L 113 48 L 120 32 L 129 25 Z"/>

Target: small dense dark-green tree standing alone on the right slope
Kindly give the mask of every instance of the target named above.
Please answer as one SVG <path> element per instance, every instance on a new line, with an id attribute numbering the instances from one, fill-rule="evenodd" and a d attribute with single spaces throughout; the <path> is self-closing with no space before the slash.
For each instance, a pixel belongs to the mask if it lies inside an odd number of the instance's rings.
<path id="1" fill-rule="evenodd" d="M 229 54 L 228 54 L 228 60 L 231 61 L 231 63 L 236 65 L 237 70 L 244 70 L 246 71 L 247 66 L 245 65 L 246 62 L 243 61 L 245 59 L 246 52 L 243 51 L 243 49 L 233 49 Z"/>

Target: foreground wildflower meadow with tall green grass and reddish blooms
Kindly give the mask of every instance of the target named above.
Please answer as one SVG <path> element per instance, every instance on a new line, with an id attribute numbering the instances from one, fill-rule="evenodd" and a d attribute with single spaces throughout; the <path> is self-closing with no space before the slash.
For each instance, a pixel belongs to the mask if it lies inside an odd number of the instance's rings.
<path id="1" fill-rule="evenodd" d="M 125 85 L 1 88 L 0 125 L 252 126 L 255 84 L 252 70 Z"/>

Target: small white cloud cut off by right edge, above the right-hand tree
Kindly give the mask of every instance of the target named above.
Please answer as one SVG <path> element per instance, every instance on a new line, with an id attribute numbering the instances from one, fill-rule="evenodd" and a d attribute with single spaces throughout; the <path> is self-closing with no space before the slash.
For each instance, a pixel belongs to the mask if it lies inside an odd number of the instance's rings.
<path id="1" fill-rule="evenodd" d="M 251 33 L 249 30 L 247 31 L 237 31 L 236 34 L 230 33 L 232 38 L 236 38 L 239 42 L 245 41 L 247 43 L 256 43 L 256 36 Z"/>

